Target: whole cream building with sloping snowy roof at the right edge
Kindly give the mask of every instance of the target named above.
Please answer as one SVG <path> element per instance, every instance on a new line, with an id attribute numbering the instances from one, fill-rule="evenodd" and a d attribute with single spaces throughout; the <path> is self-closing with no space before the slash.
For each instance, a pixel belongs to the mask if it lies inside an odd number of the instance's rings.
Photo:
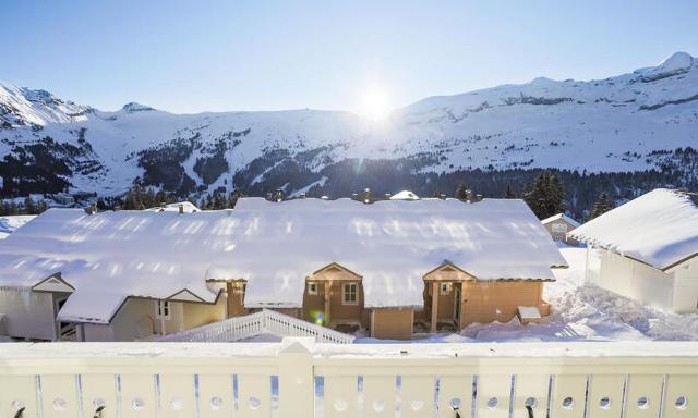
<path id="1" fill-rule="evenodd" d="M 676 314 L 698 312 L 698 195 L 658 188 L 571 232 L 590 283 Z"/>

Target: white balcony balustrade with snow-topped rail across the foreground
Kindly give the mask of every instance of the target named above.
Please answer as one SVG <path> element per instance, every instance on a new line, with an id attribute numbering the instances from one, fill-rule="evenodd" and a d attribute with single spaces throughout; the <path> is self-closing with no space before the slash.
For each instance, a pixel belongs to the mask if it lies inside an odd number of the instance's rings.
<path id="1" fill-rule="evenodd" d="M 698 344 L 286 339 L 0 349 L 2 418 L 527 418 L 527 405 L 535 418 L 698 417 Z"/>

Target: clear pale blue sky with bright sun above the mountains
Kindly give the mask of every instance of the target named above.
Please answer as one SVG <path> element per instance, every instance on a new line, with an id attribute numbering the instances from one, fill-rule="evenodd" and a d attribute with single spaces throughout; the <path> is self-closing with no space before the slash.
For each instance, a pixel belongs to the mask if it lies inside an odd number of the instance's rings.
<path id="1" fill-rule="evenodd" d="M 380 112 L 698 56 L 695 0 L 2 1 L 0 81 L 101 110 Z"/>

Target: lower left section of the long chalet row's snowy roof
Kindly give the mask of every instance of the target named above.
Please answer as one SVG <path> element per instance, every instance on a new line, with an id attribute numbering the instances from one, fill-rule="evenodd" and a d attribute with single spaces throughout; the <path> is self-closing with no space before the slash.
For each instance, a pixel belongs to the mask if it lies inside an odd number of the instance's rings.
<path id="1" fill-rule="evenodd" d="M 0 285 L 32 287 L 60 273 L 75 288 L 59 312 L 64 321 L 107 323 L 129 296 L 167 298 L 186 288 L 205 302 L 212 253 L 230 211 L 49 209 L 0 243 Z"/>

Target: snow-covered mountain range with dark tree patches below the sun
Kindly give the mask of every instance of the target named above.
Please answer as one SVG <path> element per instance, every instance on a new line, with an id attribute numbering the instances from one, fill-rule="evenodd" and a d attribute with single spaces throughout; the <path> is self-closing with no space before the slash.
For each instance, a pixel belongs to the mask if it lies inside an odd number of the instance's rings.
<path id="1" fill-rule="evenodd" d="M 685 52 L 605 79 L 541 77 L 430 97 L 377 122 L 320 110 L 172 114 L 134 102 L 105 112 L 0 83 L 4 197 L 119 195 L 134 182 L 181 195 L 301 193 L 378 162 L 387 177 L 642 171 L 697 145 L 698 59 Z"/>

